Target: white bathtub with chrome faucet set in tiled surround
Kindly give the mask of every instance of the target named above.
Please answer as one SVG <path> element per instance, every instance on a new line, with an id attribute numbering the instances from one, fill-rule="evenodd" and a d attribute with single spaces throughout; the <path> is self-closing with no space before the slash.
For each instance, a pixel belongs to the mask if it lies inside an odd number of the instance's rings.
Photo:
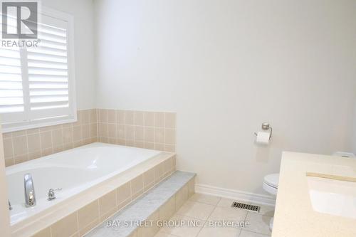
<path id="1" fill-rule="evenodd" d="M 65 152 L 6 167 L 11 226 L 50 209 L 92 186 L 137 166 L 161 152 L 115 144 L 92 143 Z M 36 206 L 25 207 L 23 175 L 30 173 L 36 193 Z M 48 201 L 48 190 L 56 199 Z"/>

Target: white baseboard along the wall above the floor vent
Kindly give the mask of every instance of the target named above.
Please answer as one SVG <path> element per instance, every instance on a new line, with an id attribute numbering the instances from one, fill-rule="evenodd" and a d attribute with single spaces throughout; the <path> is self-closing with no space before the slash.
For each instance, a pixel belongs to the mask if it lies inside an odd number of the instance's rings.
<path id="1" fill-rule="evenodd" d="M 263 194 L 253 194 L 246 191 L 239 191 L 234 189 L 223 189 L 217 186 L 209 186 L 205 184 L 195 184 L 195 192 L 198 194 L 220 196 L 226 199 L 236 199 L 240 201 L 253 202 L 256 204 L 263 204 L 268 206 L 275 206 L 276 204 L 276 199 L 274 199 L 272 196 Z"/>

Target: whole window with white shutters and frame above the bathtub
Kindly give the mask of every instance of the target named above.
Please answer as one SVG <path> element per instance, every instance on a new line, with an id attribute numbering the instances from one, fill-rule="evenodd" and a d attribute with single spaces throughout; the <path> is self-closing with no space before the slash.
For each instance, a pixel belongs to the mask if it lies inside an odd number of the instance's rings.
<path id="1" fill-rule="evenodd" d="M 73 19 L 50 9 L 43 10 L 38 19 L 37 47 L 0 48 L 0 115 L 4 131 L 76 120 L 70 52 Z"/>

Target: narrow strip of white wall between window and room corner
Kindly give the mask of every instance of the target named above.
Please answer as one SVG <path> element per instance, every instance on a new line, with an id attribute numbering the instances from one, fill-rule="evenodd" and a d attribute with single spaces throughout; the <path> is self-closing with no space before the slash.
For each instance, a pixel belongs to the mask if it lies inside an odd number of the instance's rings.
<path id="1" fill-rule="evenodd" d="M 74 16 L 75 88 L 78 109 L 95 107 L 93 1 L 41 0 L 43 6 Z"/>

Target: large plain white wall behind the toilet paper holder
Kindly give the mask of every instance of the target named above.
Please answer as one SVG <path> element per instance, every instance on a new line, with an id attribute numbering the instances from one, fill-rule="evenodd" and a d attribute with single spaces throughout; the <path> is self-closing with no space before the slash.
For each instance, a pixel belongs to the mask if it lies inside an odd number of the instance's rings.
<path id="1" fill-rule="evenodd" d="M 98 107 L 177 112 L 177 165 L 263 194 L 281 152 L 352 149 L 356 1 L 98 0 Z M 273 142 L 253 144 L 271 122 Z"/>

